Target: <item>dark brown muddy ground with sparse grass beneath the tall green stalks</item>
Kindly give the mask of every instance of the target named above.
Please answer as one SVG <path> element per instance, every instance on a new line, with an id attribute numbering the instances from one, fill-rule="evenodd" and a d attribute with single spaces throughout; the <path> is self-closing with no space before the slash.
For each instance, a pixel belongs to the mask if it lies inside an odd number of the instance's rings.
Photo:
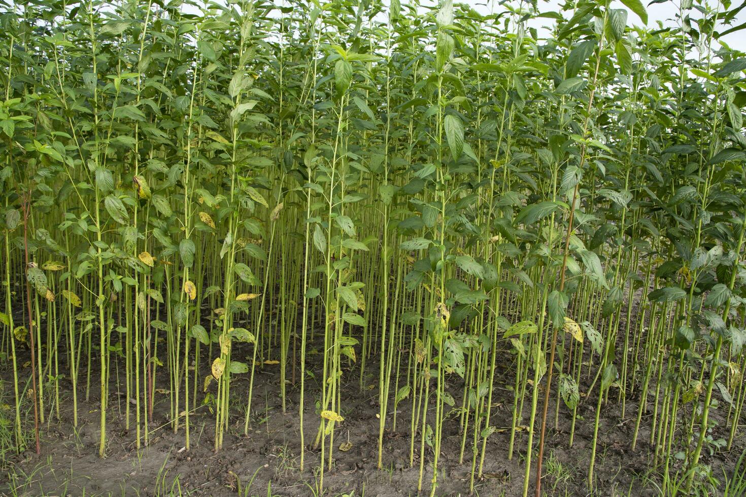
<path id="1" fill-rule="evenodd" d="M 316 347 L 321 344 L 313 344 Z M 502 345 L 504 346 L 504 344 Z M 309 346 L 309 369 L 319 370 L 321 355 L 318 348 Z M 203 347 L 204 351 L 204 347 Z M 313 352 L 316 352 L 315 354 Z M 25 352 L 28 355 L 28 352 Z M 234 349 L 233 357 L 248 355 L 248 350 Z M 22 355 L 22 354 L 19 354 Z M 498 355 L 504 358 L 498 365 L 493 393 L 492 422 L 498 431 L 487 443 L 484 477 L 475 484 L 475 493 L 480 496 L 519 496 L 524 475 L 524 451 L 527 442 L 525 431 L 516 440 L 513 460 L 507 460 L 510 440 L 511 408 L 513 393 L 506 385 L 513 384 L 514 366 L 508 350 Z M 20 363 L 25 362 L 21 360 Z M 246 361 L 249 363 L 250 361 Z M 114 364 L 115 361 L 112 361 Z M 123 361 L 119 361 L 122 381 Z M 207 375 L 209 358 L 203 354 L 201 369 Z M 378 359 L 368 361 L 367 372 L 377 372 Z M 345 372 L 342 379 L 341 413 L 345 421 L 336 430 L 334 438 L 334 460 L 332 469 L 325 471 L 324 488 L 327 496 L 414 496 L 419 480 L 419 437 L 416 440 L 413 466 L 410 467 L 410 402 L 404 401 L 397 412 L 396 430 L 389 429 L 384 435 L 383 469 L 377 469 L 377 375 L 372 374 L 360 388 L 360 364 Z M 95 370 L 95 366 L 93 367 Z M 22 370 L 22 378 L 28 378 L 30 368 Z M 165 372 L 165 368 L 161 369 Z M 0 369 L 3 391 L 0 404 L 5 405 L 4 419 L 13 419 L 13 383 L 10 363 Z M 288 377 L 290 378 L 290 374 Z M 297 376 L 297 373 L 296 373 Z M 460 405 L 461 384 L 455 375 L 448 385 L 457 406 Z M 642 375 L 638 375 L 641 378 Z M 125 428 L 124 386 L 119 392 L 116 375 L 110 385 L 110 408 L 107 417 L 107 458 L 98 458 L 98 378 L 92 376 L 90 401 L 85 401 L 84 389 L 78 393 L 79 426 L 72 427 L 71 384 L 63 379 L 61 387 L 61 420 L 46 420 L 42 430 L 42 454 L 37 456 L 27 450 L 21 455 L 9 452 L 0 473 L 0 495 L 22 496 L 314 496 L 318 495 L 319 456 L 313 449 L 313 438 L 319 426 L 313 399 L 319 392 L 316 379 L 306 382 L 306 410 L 304 411 L 305 437 L 307 443 L 305 469 L 299 469 L 300 436 L 297 381 L 288 384 L 286 412 L 283 414 L 279 395 L 279 365 L 264 364 L 257 368 L 254 384 L 253 415 L 249 436 L 243 435 L 248 375 L 234 376 L 231 384 L 231 425 L 225 436 L 224 447 L 213 452 L 214 414 L 208 406 L 202 406 L 191 414 L 191 449 L 184 450 L 184 429 L 174 434 L 169 425 L 169 395 L 155 393 L 154 419 L 147 447 L 140 451 L 134 443 L 134 429 Z M 458 381 L 455 381 L 455 380 Z M 156 388 L 167 387 L 165 376 L 158 377 Z M 84 376 L 81 374 L 84 387 Z M 214 386 L 214 384 L 213 384 Z M 580 391 L 587 390 L 588 384 Z M 200 384 L 201 390 L 201 384 Z M 639 389 L 638 389 L 639 390 Z M 595 392 L 598 390 L 594 390 Z M 581 396 L 574 444 L 568 446 L 571 414 L 565 405 L 560 406 L 559 425 L 554 425 L 554 402 L 548 424 L 548 447 L 545 455 L 545 479 L 542 490 L 548 496 L 656 496 L 659 495 L 654 481 L 660 478 L 660 470 L 653 469 L 650 438 L 652 402 L 642 418 L 639 441 L 635 452 L 630 450 L 630 440 L 637 414 L 639 392 L 627 399 L 626 416 L 620 421 L 620 407 L 616 402 L 618 390 L 612 387 L 609 403 L 601 412 L 595 476 L 597 488 L 589 494 L 586 475 L 589 464 L 595 394 L 592 399 Z M 543 398 L 543 394 L 540 399 Z M 200 396 L 201 400 L 201 396 Z M 27 402 L 30 408 L 30 402 Z M 48 411 L 48 404 L 46 406 Z M 530 409 L 530 396 L 525 403 L 525 417 Z M 715 439 L 727 437 L 723 409 L 715 410 L 718 420 Z M 434 416 L 434 408 L 433 414 Z M 33 420 L 33 413 L 28 419 Z M 134 420 L 134 413 L 133 413 Z M 469 490 L 471 452 L 467 438 L 467 449 L 463 463 L 459 463 L 461 435 L 457 420 L 449 420 L 443 428 L 442 455 L 439 460 L 438 496 L 466 496 Z M 31 427 L 28 434 L 31 434 Z M 12 437 L 12 425 L 3 430 Z M 536 437 L 538 438 L 538 437 Z M 536 443 L 535 438 L 535 443 Z M 342 443 L 350 442 L 347 452 L 339 451 Z M 730 452 L 718 452 L 714 456 L 703 451 L 703 462 L 712 467 L 712 473 L 723 477 L 730 473 L 744 447 L 743 435 L 739 435 Z M 534 451 L 536 454 L 536 450 Z M 432 452 L 427 450 L 424 464 L 423 493 L 429 492 L 432 477 L 430 463 Z M 559 462 L 559 464 L 558 464 Z M 680 462 L 674 460 L 672 469 L 679 469 Z M 534 464 L 535 466 L 535 464 Z M 533 478 L 532 478 L 533 487 Z M 240 491 L 240 494 L 239 494 Z M 533 490 L 531 491 L 533 495 Z"/>

